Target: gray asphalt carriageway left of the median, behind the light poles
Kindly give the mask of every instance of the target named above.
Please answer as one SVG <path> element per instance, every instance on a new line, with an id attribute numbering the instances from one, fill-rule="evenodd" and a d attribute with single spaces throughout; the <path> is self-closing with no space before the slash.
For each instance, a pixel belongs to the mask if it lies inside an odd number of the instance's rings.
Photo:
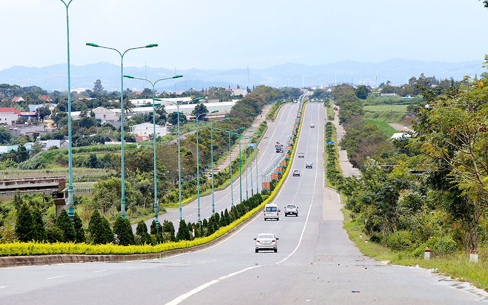
<path id="1" fill-rule="evenodd" d="M 265 136 L 268 137 L 267 139 L 262 139 L 258 145 L 258 176 L 261 174 L 265 168 L 270 166 L 273 163 L 275 158 L 281 156 L 281 154 L 276 154 L 274 145 L 276 142 L 284 143 L 290 136 L 292 132 L 292 128 L 295 122 L 296 113 L 298 109 L 298 104 L 287 104 L 284 105 L 279 113 L 278 117 L 274 122 L 268 122 L 268 129 L 265 133 Z M 244 148 L 243 146 L 241 147 Z M 234 156 L 235 157 L 235 156 Z M 244 160 L 242 160 L 244 161 Z M 246 167 L 245 163 L 242 162 L 242 200 L 246 199 L 246 177 L 248 179 L 248 196 L 251 197 L 252 194 L 256 193 L 256 157 L 252 160 L 252 170 L 250 163 L 248 163 L 248 174 L 246 175 Z M 232 168 L 232 172 L 238 172 L 239 168 Z M 253 173 L 252 177 L 252 188 L 251 190 L 251 171 Z M 259 177 L 259 192 L 261 192 L 261 177 Z M 237 205 L 240 202 L 240 186 L 239 186 L 239 177 L 233 181 L 233 196 L 234 196 L 234 205 Z M 221 212 L 226 208 L 230 210 L 232 205 L 231 194 L 230 194 L 230 185 L 226 188 L 214 192 L 215 197 L 215 211 Z M 185 204 L 182 207 L 182 216 L 186 222 L 196 222 L 197 221 L 197 211 L 198 211 L 198 202 L 197 200 L 193 200 L 190 203 Z M 204 218 L 209 218 L 212 215 L 212 194 L 200 197 L 200 218 L 203 221 Z M 147 227 L 149 228 L 152 222 L 152 219 L 148 219 L 146 221 Z M 176 231 L 178 231 L 178 224 L 180 219 L 180 212 L 179 209 L 168 209 L 167 213 L 161 214 L 158 217 L 159 222 L 162 223 L 165 219 L 172 221 Z M 136 231 L 137 224 L 133 224 L 132 228 L 133 231 Z"/>

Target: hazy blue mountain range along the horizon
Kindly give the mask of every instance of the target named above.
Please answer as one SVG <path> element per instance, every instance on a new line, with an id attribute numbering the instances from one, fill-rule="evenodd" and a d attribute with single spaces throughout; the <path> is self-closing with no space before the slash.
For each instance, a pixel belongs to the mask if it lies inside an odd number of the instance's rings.
<path id="1" fill-rule="evenodd" d="M 355 85 L 376 86 L 386 81 L 392 84 L 405 84 L 411 77 L 419 77 L 424 73 L 427 77 L 435 75 L 437 79 L 451 78 L 460 80 L 464 75 L 480 75 L 486 70 L 481 67 L 481 61 L 441 62 L 420 61 L 408 59 L 391 59 L 378 63 L 340 61 L 322 65 L 303 65 L 286 63 L 263 69 L 249 69 L 249 87 L 253 85 L 268 85 L 273 87 L 302 87 L 320 86 L 323 84 L 353 83 Z M 16 84 L 22 87 L 36 85 L 48 91 L 65 91 L 67 86 L 66 64 L 47 67 L 13 66 L 0 70 L 0 84 Z M 211 86 L 246 88 L 248 85 L 248 71 L 242 69 L 226 70 L 177 70 L 177 74 L 184 78 L 175 81 L 168 80 L 156 85 L 158 91 L 186 90 L 190 88 L 202 89 Z M 171 77 L 175 73 L 172 69 L 152 67 L 124 67 L 124 74 L 134 77 L 157 80 Z M 71 88 L 92 89 L 93 83 L 100 79 L 107 91 L 120 90 L 120 67 L 111 63 L 101 62 L 82 66 L 71 65 Z M 142 90 L 150 86 L 144 81 L 124 79 L 124 89 Z"/>

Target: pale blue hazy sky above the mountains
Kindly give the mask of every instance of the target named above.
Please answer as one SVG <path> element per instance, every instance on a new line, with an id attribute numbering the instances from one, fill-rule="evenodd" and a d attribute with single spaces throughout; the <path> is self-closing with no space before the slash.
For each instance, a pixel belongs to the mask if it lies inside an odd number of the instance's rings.
<path id="1" fill-rule="evenodd" d="M 69 0 L 67 0 L 69 1 Z M 0 69 L 66 63 L 61 0 L 0 0 Z M 459 62 L 488 53 L 488 9 L 477 0 L 73 0 L 74 65 L 263 68 L 392 58 Z"/>

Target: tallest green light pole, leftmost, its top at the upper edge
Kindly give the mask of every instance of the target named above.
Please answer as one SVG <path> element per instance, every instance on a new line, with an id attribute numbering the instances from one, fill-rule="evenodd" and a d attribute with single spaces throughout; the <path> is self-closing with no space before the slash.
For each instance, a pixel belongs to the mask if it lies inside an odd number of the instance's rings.
<path id="1" fill-rule="evenodd" d="M 66 41 L 68 45 L 68 172 L 69 172 L 69 182 L 68 182 L 68 216 L 73 223 L 74 211 L 73 211 L 73 157 L 71 153 L 71 74 L 69 70 L 69 22 L 68 22 L 68 7 L 73 0 L 69 0 L 66 4 L 64 0 L 61 2 L 66 7 Z"/>

